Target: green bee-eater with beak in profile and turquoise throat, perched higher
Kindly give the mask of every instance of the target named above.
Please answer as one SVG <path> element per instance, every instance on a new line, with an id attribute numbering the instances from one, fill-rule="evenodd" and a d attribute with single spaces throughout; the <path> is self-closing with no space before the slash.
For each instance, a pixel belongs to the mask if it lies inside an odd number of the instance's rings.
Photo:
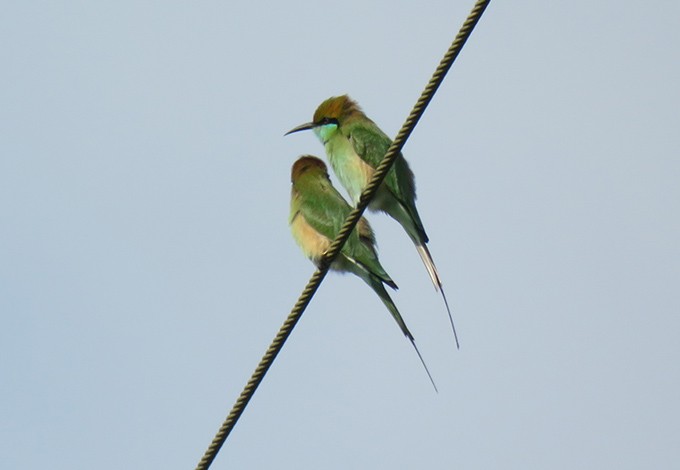
<path id="1" fill-rule="evenodd" d="M 392 141 L 347 95 L 334 96 L 321 103 L 313 119 L 312 122 L 291 129 L 286 135 L 313 129 L 326 148 L 333 171 L 356 204 Z M 413 172 L 403 155 L 399 154 L 397 157 L 368 208 L 372 211 L 386 212 L 406 230 L 427 268 L 435 289 L 441 291 L 456 346 L 459 347 L 456 327 L 442 289 L 442 282 L 427 248 L 429 238 L 416 209 Z"/>

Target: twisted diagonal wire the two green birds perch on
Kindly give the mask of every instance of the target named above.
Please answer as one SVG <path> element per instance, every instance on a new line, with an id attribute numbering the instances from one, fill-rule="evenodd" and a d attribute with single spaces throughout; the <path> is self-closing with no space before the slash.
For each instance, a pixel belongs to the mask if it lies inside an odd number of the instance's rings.
<path id="1" fill-rule="evenodd" d="M 290 336 L 298 320 L 300 320 L 302 313 L 305 311 L 307 305 L 312 300 L 314 293 L 321 285 L 321 281 L 323 281 L 324 277 L 326 277 L 330 264 L 340 253 L 340 250 L 347 241 L 347 238 L 349 238 L 349 234 L 352 232 L 354 226 L 359 221 L 361 214 L 363 214 L 364 210 L 368 206 L 368 203 L 377 192 L 380 183 L 382 183 L 385 175 L 387 175 L 387 172 L 391 168 L 392 163 L 401 152 L 406 140 L 411 135 L 411 132 L 413 132 L 416 124 L 425 112 L 425 108 L 432 100 L 432 97 L 439 88 L 439 85 L 441 85 L 446 73 L 456 60 L 456 57 L 458 57 L 463 45 L 465 45 L 465 42 L 470 37 L 472 30 L 481 18 L 489 2 L 490 0 L 478 0 L 470 11 L 465 23 L 463 23 L 463 26 L 456 35 L 456 38 L 453 40 L 453 43 L 451 43 L 451 46 L 446 51 L 446 54 L 444 54 L 444 57 L 437 66 L 437 69 L 432 74 L 432 78 L 425 87 L 425 90 L 423 90 L 423 93 L 420 95 L 420 98 L 413 107 L 411 114 L 409 114 L 406 122 L 395 137 L 392 145 L 380 162 L 380 165 L 378 165 L 376 168 L 373 178 L 371 178 L 371 181 L 361 193 L 359 203 L 357 204 L 356 208 L 352 210 L 352 212 L 347 216 L 347 219 L 340 229 L 340 232 L 338 232 L 335 241 L 329 247 L 326 255 L 321 260 L 318 269 L 310 278 L 309 282 L 305 286 L 305 289 L 302 291 L 302 294 L 300 294 L 298 301 L 295 303 L 295 306 L 291 310 L 286 320 L 283 322 L 283 325 L 281 325 L 279 332 L 274 337 L 274 340 L 269 345 L 269 348 L 267 348 L 264 356 L 262 356 L 260 363 L 257 365 L 257 368 L 250 377 L 250 380 L 248 380 L 248 383 L 243 388 L 243 391 L 236 400 L 231 412 L 227 416 L 224 423 L 222 423 L 222 426 L 213 438 L 210 446 L 208 446 L 205 454 L 203 454 L 201 461 L 196 466 L 196 470 L 208 469 L 213 460 L 215 460 L 217 453 L 227 440 L 229 433 L 231 433 L 241 414 L 243 414 L 245 407 L 248 405 L 248 402 L 254 395 L 255 390 L 260 385 L 260 382 L 262 382 L 267 370 L 269 370 L 269 367 L 271 367 L 274 359 L 281 351 L 283 344 L 286 342 L 286 339 L 288 339 L 288 336 Z"/>

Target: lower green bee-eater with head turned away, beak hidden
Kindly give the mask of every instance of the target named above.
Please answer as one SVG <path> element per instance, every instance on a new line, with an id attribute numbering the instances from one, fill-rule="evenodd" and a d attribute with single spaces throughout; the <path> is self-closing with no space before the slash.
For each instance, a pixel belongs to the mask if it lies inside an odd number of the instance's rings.
<path id="1" fill-rule="evenodd" d="M 316 265 L 340 231 L 352 207 L 333 187 L 326 164 L 313 156 L 302 156 L 291 171 L 293 183 L 290 196 L 289 224 L 293 238 L 304 254 Z M 378 261 L 375 249 L 375 236 L 365 218 L 361 218 L 342 247 L 331 268 L 336 271 L 356 274 L 366 282 L 380 297 L 399 328 L 410 341 L 425 367 L 434 386 L 430 371 L 416 346 L 413 335 L 406 327 L 397 306 L 385 290 L 384 284 L 393 289 L 397 285 L 385 272 Z"/>

